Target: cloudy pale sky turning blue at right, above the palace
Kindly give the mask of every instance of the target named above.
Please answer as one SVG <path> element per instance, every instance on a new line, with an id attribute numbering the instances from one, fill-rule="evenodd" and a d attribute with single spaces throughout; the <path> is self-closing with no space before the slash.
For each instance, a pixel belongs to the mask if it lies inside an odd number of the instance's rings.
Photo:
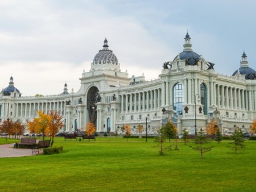
<path id="1" fill-rule="evenodd" d="M 184 37 L 215 71 L 231 76 L 243 51 L 256 70 L 256 1 L 0 0 L 0 88 L 22 96 L 69 93 L 108 48 L 129 77 L 157 79 Z"/>

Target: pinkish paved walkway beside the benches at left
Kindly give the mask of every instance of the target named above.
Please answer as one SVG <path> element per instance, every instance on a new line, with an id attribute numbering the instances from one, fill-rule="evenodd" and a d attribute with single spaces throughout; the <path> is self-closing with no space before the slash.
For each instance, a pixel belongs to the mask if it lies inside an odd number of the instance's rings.
<path id="1" fill-rule="evenodd" d="M 31 149 L 13 148 L 13 144 L 0 144 L 0 158 L 31 156 Z"/>

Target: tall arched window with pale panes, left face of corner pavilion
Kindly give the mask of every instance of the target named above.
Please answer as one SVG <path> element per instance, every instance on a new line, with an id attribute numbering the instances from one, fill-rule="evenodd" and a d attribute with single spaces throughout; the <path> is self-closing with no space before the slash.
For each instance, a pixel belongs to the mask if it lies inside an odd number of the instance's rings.
<path id="1" fill-rule="evenodd" d="M 184 102 L 184 88 L 182 84 L 176 84 L 173 87 L 173 107 L 179 115 L 182 115 L 182 104 Z"/>

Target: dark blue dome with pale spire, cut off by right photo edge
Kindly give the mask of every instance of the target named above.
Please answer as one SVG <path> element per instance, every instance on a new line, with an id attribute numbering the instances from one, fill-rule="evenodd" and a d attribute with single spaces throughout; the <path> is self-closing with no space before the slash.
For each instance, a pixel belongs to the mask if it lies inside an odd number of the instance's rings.
<path id="1" fill-rule="evenodd" d="M 244 52 L 243 52 L 242 60 L 240 63 L 241 63 L 241 67 L 239 69 L 237 69 L 232 74 L 232 76 L 235 76 L 239 72 L 241 75 L 245 76 L 245 79 L 255 79 L 256 71 L 249 67 L 248 62 L 247 62 L 247 56 Z"/>

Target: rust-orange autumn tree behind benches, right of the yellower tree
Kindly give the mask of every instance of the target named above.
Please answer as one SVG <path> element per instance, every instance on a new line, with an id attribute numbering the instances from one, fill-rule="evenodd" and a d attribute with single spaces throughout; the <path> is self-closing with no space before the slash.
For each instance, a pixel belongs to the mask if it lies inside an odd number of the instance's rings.
<path id="1" fill-rule="evenodd" d="M 57 111 L 51 110 L 49 112 L 49 116 L 51 117 L 51 122 L 49 123 L 49 126 L 46 127 L 46 134 L 51 137 L 51 145 L 54 143 L 54 136 L 57 134 L 59 129 L 62 129 L 64 126 L 63 124 L 63 116 L 59 115 Z"/>

